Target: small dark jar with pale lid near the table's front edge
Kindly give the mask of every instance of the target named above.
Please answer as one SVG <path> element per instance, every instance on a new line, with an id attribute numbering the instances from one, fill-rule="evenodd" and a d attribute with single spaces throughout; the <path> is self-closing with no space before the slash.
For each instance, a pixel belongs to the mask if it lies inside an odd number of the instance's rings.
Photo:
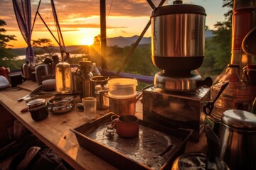
<path id="1" fill-rule="evenodd" d="M 37 98 L 27 103 L 33 120 L 40 121 L 48 117 L 48 107 L 44 98 Z"/>

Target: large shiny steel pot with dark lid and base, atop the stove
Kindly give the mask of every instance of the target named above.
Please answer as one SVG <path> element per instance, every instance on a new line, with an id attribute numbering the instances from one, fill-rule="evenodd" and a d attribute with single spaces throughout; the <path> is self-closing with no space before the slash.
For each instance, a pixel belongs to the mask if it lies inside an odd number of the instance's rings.
<path id="1" fill-rule="evenodd" d="M 205 18 L 205 9 L 197 5 L 173 4 L 155 8 L 151 14 L 154 65 L 164 70 L 194 70 L 201 67 Z"/>

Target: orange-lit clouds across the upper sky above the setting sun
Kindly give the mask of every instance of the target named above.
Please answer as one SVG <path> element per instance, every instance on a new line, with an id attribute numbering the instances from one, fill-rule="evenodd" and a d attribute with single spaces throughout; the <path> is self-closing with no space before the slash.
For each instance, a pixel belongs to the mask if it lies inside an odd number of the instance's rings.
<path id="1" fill-rule="evenodd" d="M 6 30 L 18 30 L 14 8 L 11 0 L 0 0 L 1 16 L 0 18 L 6 21 Z M 21 0 L 18 0 L 21 1 Z M 160 0 L 153 0 L 155 6 L 159 4 Z M 61 26 L 67 28 L 100 28 L 100 18 L 94 21 L 87 21 L 88 18 L 93 16 L 100 16 L 100 1 L 92 0 L 55 0 L 55 9 L 58 15 L 58 21 Z M 111 6 L 112 5 L 112 6 Z M 31 0 L 31 15 L 32 21 L 38 8 L 38 0 Z M 106 1 L 106 15 L 111 16 L 127 16 L 127 17 L 140 17 L 150 16 L 151 7 L 145 0 L 126 0 L 126 1 Z M 46 23 L 53 23 L 53 14 L 51 11 L 50 0 L 41 1 L 39 13 Z M 41 28 L 40 19 L 37 16 L 35 30 Z M 80 21 L 75 21 L 77 18 L 82 18 Z M 75 23 L 74 23 L 75 21 Z M 72 22 L 68 23 L 68 22 Z M 108 26 L 108 28 L 118 28 L 119 26 Z M 121 28 L 122 26 L 120 26 Z"/>

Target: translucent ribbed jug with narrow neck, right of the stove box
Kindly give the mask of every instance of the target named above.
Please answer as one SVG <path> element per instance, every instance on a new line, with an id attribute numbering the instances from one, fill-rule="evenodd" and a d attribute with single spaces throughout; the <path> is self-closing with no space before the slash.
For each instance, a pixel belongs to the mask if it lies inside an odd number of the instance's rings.
<path id="1" fill-rule="evenodd" d="M 229 83 L 218 100 L 215 101 L 213 112 L 210 115 L 210 118 L 214 121 L 220 122 L 223 112 L 229 109 L 250 111 L 250 86 L 246 84 L 242 74 L 242 69 L 239 64 L 228 64 L 228 68 L 223 77 L 218 84 L 215 84 L 211 88 L 211 98 L 215 98 L 221 86 L 225 84 L 225 82 Z"/>

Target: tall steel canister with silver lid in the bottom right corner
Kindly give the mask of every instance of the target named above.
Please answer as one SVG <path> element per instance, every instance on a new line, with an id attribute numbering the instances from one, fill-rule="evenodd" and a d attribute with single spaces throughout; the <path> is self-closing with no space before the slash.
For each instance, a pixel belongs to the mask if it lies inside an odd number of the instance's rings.
<path id="1" fill-rule="evenodd" d="M 256 169 L 256 115 L 228 110 L 223 113 L 221 122 L 220 159 L 230 169 Z"/>

